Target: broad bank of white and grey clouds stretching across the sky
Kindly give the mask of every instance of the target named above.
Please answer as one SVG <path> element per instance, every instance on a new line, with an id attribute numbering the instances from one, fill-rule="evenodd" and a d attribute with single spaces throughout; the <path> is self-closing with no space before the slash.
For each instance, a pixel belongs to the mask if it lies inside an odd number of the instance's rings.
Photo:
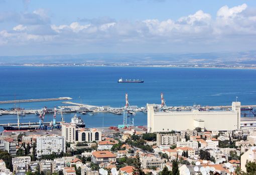
<path id="1" fill-rule="evenodd" d="M 148 44 L 159 47 L 160 44 L 184 47 L 188 44 L 205 45 L 207 43 L 230 42 L 234 39 L 253 43 L 256 39 L 256 12 L 248 11 L 246 4 L 221 7 L 216 18 L 203 10 L 182 16 L 178 20 L 146 19 L 128 21 L 110 19 L 78 19 L 69 24 L 51 23 L 44 9 L 24 13 L 12 30 L 0 31 L 0 44 L 38 44 L 57 45 L 123 45 L 131 43 Z M 0 15 L 1 21 L 1 15 Z M 249 36 L 246 41 L 244 36 Z M 167 50 L 168 51 L 168 50 Z"/>

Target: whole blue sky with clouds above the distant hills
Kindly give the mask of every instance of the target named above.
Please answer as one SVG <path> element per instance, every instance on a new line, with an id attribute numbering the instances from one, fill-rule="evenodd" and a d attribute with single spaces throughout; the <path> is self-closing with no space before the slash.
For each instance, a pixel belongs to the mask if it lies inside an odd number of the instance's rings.
<path id="1" fill-rule="evenodd" d="M 0 56 L 255 50 L 256 0 L 0 0 Z"/>

